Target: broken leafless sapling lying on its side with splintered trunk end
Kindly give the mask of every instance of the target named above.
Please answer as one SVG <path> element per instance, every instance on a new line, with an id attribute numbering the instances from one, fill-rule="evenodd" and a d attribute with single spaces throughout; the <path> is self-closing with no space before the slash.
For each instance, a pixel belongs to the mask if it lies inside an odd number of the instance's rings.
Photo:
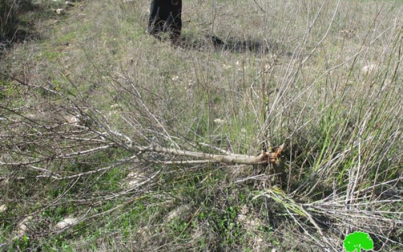
<path id="1" fill-rule="evenodd" d="M 101 112 L 91 106 L 81 94 L 74 95 L 66 90 L 60 92 L 52 85 L 40 86 L 10 76 L 7 78 L 10 82 L 4 87 L 15 93 L 4 98 L 7 100 L 16 95 L 18 99 L 27 99 L 33 104 L 13 107 L 10 106 L 12 100 L 9 100 L 10 103 L 1 105 L 2 151 L 5 155 L 0 164 L 4 167 L 18 167 L 19 170 L 26 168 L 40 171 L 37 177 L 73 178 L 112 169 L 125 162 L 274 165 L 279 163 L 284 148 L 284 144 L 276 150 L 270 146 L 269 151 L 265 148 L 251 156 L 175 136 L 173 129 L 168 129 L 161 118 L 150 111 L 135 86 L 126 91 L 130 96 L 133 115 L 139 118 L 125 118 L 121 115 L 130 125 L 130 131 L 127 132 L 113 128 L 104 115 L 105 111 Z M 30 97 L 27 97 L 27 93 L 30 93 Z M 35 93 L 50 97 L 50 100 L 37 99 Z M 267 143 L 266 140 L 264 142 Z M 132 156 L 113 166 L 78 174 L 67 175 L 62 170 L 49 168 L 58 162 L 114 148 L 131 153 Z"/>

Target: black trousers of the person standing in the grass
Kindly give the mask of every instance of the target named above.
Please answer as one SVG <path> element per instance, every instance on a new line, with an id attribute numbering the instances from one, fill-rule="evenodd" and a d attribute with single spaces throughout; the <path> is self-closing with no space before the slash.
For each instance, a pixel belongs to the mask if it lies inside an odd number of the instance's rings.
<path id="1" fill-rule="evenodd" d="M 182 29 L 182 0 L 152 0 L 148 32 L 159 38 L 158 33 L 169 32 L 177 40 Z"/>

